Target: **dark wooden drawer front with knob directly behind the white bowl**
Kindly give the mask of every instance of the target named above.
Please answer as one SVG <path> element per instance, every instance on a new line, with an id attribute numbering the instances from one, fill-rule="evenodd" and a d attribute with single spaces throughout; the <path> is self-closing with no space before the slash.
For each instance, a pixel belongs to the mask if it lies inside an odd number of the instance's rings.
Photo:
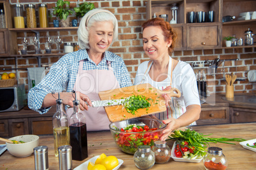
<path id="1" fill-rule="evenodd" d="M 26 118 L 24 119 L 9 119 L 9 136 L 19 136 L 29 134 L 29 124 Z"/>

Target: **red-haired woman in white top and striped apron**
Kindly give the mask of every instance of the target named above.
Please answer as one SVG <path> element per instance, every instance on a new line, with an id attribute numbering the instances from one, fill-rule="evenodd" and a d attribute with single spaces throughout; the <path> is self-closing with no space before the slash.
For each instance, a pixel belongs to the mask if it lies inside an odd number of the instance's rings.
<path id="1" fill-rule="evenodd" d="M 173 51 L 176 34 L 168 22 L 162 18 L 146 21 L 143 27 L 143 49 L 151 59 L 139 65 L 134 84 L 150 83 L 155 88 L 168 90 L 177 88 L 180 98 L 164 95 L 166 112 L 156 114 L 158 119 L 167 124 L 164 135 L 166 140 L 174 129 L 189 124 L 196 124 L 201 112 L 196 76 L 192 67 L 185 62 L 174 60 L 169 56 Z"/>

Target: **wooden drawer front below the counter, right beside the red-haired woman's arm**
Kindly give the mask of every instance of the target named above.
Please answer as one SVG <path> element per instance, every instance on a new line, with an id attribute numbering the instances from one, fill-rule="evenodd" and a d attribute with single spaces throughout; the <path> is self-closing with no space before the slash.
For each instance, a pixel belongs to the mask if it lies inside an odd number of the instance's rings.
<path id="1" fill-rule="evenodd" d="M 196 121 L 198 125 L 225 124 L 229 122 L 229 107 L 202 108 L 200 118 Z"/>

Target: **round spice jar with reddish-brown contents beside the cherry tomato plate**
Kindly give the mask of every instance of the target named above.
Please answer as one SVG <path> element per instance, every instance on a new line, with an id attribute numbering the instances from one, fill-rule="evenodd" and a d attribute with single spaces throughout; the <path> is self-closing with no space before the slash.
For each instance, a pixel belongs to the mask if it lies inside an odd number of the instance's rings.
<path id="1" fill-rule="evenodd" d="M 152 151 L 157 164 L 164 164 L 171 158 L 171 149 L 166 145 L 166 141 L 155 141 Z"/>

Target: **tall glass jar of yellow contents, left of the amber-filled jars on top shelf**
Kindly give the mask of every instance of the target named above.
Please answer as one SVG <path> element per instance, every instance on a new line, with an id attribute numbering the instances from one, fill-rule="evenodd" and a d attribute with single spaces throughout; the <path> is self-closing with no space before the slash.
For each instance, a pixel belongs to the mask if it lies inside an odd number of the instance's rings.
<path id="1" fill-rule="evenodd" d="M 24 29 L 25 28 L 25 20 L 23 16 L 23 6 L 22 4 L 13 4 L 13 22 L 15 29 Z"/>

